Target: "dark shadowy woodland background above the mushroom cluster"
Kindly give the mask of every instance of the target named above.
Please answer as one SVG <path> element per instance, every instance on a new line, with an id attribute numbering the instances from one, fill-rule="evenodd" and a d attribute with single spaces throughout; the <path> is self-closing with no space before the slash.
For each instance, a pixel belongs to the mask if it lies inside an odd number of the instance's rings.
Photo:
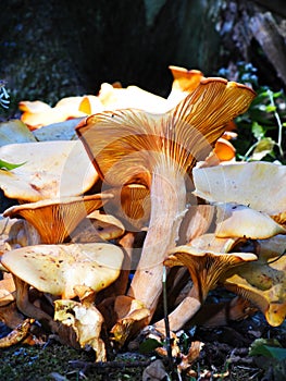
<path id="1" fill-rule="evenodd" d="M 166 96 L 170 64 L 211 76 L 244 60 L 259 69 L 262 82 L 284 87 L 285 3 L 268 3 L 1 0 L 0 79 L 8 83 L 10 112 L 24 99 L 54 105 L 64 96 L 97 94 L 103 82 Z M 269 40 L 261 25 L 253 30 L 253 20 L 262 20 Z"/>

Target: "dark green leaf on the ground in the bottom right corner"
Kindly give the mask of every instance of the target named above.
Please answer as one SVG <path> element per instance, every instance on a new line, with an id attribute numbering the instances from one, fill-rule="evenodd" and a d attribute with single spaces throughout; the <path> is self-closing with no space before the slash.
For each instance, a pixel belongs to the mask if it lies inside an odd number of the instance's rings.
<path id="1" fill-rule="evenodd" d="M 251 344 L 249 355 L 261 355 L 282 361 L 286 359 L 286 348 L 283 348 L 275 339 L 258 339 Z"/>

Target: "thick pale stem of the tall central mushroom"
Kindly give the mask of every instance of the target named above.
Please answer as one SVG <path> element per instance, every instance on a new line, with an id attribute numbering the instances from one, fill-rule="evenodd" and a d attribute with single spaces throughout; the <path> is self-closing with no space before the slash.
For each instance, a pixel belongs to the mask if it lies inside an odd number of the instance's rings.
<path id="1" fill-rule="evenodd" d="M 151 319 L 162 292 L 163 260 L 176 245 L 186 212 L 185 173 L 170 158 L 154 167 L 150 197 L 150 224 L 128 295 L 145 304 Z"/>

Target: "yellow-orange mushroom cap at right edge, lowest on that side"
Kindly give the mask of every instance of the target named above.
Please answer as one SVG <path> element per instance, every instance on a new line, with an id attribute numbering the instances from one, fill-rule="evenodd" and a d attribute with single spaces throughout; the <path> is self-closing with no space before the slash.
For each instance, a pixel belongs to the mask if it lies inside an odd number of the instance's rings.
<path id="1" fill-rule="evenodd" d="M 286 256 L 265 263 L 247 263 L 235 275 L 227 278 L 224 286 L 256 305 L 268 322 L 277 327 L 286 318 Z"/>

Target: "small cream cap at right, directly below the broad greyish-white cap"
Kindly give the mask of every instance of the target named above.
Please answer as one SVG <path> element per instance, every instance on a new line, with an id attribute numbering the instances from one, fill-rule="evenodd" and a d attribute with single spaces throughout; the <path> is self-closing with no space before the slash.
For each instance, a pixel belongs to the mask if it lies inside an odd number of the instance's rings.
<path id="1" fill-rule="evenodd" d="M 244 205 L 217 204 L 216 210 L 215 235 L 217 237 L 263 239 L 276 234 L 286 234 L 286 230 L 266 213 Z"/>

